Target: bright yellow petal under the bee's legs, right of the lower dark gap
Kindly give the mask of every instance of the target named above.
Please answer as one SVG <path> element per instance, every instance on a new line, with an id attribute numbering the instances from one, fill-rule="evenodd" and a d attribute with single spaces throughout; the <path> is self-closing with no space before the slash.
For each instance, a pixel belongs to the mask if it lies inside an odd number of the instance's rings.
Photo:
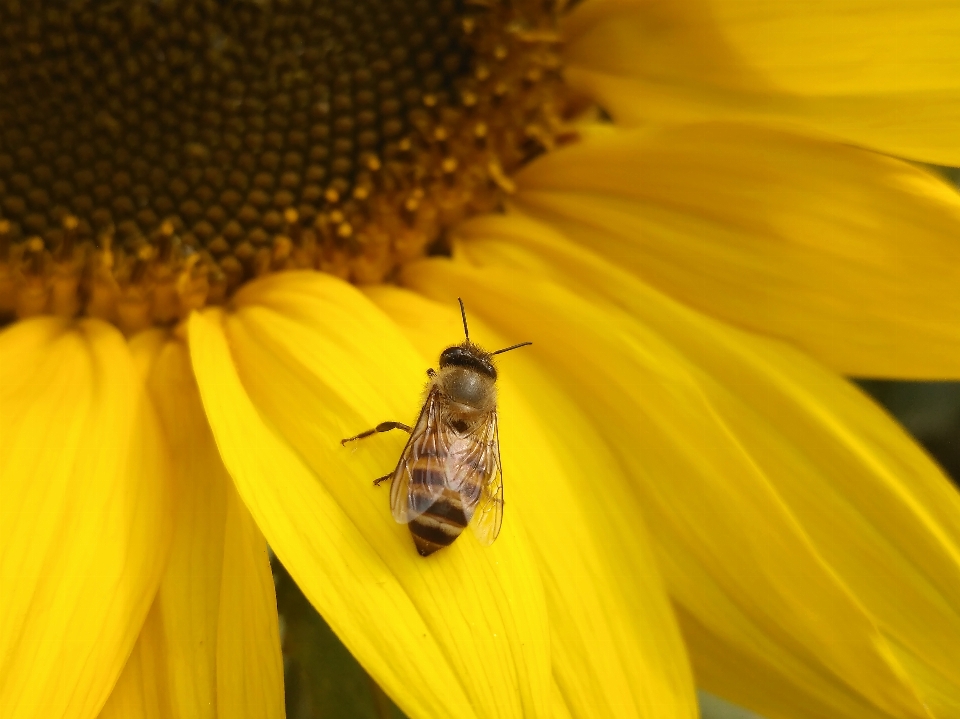
<path id="1" fill-rule="evenodd" d="M 192 318 L 204 408 L 240 496 L 291 575 L 412 717 L 546 716 L 544 599 L 516 525 L 423 559 L 371 479 L 402 437 L 425 364 L 351 286 L 317 273 L 249 285 L 237 310 Z"/>

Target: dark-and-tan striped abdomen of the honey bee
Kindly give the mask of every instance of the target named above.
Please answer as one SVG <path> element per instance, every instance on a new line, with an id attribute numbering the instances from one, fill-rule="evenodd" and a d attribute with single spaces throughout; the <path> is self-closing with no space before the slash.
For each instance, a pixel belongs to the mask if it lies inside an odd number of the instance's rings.
<path id="1" fill-rule="evenodd" d="M 459 477 L 446 477 L 443 469 L 438 466 L 442 465 L 445 459 L 449 462 L 449 457 L 421 457 L 411 472 L 413 481 L 410 483 L 410 499 L 413 508 L 416 511 L 421 509 L 421 506 L 417 506 L 420 504 L 417 502 L 417 495 L 422 503 L 433 500 L 418 516 L 410 520 L 408 525 L 417 552 L 423 557 L 453 544 L 453 540 L 459 537 L 470 523 L 479 496 L 480 477 L 475 474 L 475 470 L 460 470 L 455 473 L 459 474 Z M 451 479 L 454 480 L 452 483 Z M 439 496 L 437 485 L 442 487 Z"/>

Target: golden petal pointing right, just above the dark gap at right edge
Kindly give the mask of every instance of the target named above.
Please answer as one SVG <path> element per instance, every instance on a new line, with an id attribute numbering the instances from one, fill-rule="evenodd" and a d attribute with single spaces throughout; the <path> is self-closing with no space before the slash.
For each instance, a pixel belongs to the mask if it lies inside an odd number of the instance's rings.
<path id="1" fill-rule="evenodd" d="M 666 293 L 860 376 L 960 377 L 960 194 L 892 158 L 700 125 L 532 163 L 518 207 Z"/>

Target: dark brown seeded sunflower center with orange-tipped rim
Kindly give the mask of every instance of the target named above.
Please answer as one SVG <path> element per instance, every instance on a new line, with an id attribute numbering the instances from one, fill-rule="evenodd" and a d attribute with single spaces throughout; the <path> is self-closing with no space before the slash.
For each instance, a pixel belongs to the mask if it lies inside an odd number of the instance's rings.
<path id="1" fill-rule="evenodd" d="M 0 0 L 0 319 L 443 251 L 564 132 L 547 0 Z"/>

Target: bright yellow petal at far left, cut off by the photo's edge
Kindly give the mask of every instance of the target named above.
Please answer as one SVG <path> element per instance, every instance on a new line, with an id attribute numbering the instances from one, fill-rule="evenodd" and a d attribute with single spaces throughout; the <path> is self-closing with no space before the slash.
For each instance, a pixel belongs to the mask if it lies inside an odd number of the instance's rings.
<path id="1" fill-rule="evenodd" d="M 163 571 L 168 450 L 109 325 L 18 322 L 0 368 L 0 706 L 92 717 Z"/>

